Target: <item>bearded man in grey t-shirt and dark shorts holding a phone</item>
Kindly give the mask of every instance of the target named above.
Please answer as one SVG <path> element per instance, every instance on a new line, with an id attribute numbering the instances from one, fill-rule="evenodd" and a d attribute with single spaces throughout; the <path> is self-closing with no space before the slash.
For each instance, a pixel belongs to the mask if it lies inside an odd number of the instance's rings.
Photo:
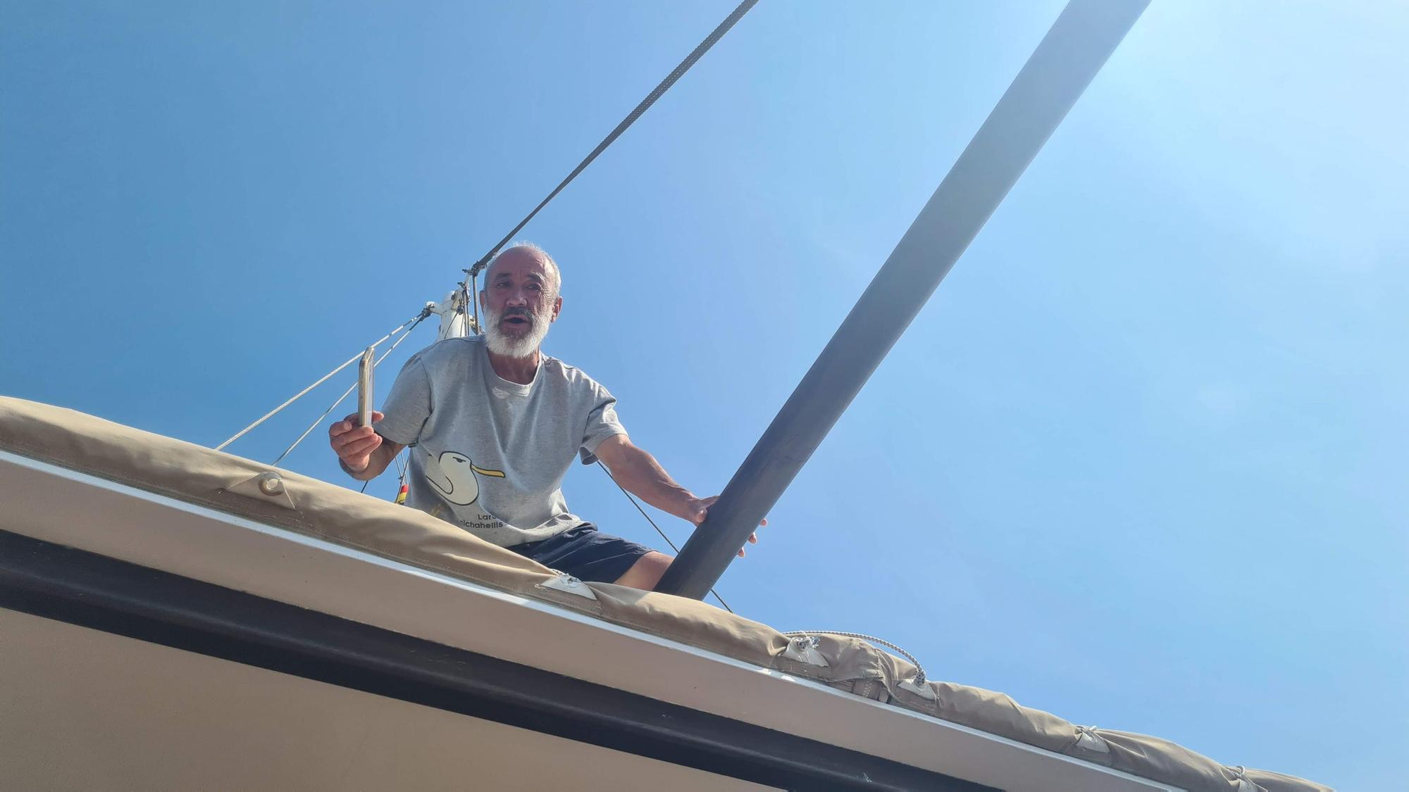
<path id="1" fill-rule="evenodd" d="M 358 481 L 380 475 L 410 445 L 410 506 L 583 581 L 650 590 L 671 557 L 568 512 L 561 486 L 572 458 L 600 458 L 623 488 L 695 524 L 714 497 L 675 483 L 631 444 L 606 388 L 540 351 L 562 311 L 561 287 L 558 265 L 541 248 L 504 249 L 479 293 L 483 335 L 417 352 L 392 385 L 385 414 L 373 413 L 371 427 L 348 416 L 328 430 L 328 443 Z"/>

